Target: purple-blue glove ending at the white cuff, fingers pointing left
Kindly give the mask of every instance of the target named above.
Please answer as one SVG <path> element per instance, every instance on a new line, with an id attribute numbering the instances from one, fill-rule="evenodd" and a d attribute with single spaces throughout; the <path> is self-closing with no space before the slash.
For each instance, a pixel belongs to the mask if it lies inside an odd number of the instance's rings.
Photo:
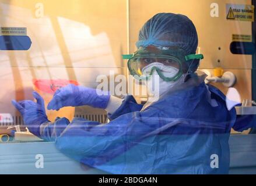
<path id="1" fill-rule="evenodd" d="M 55 92 L 52 100 L 48 103 L 47 109 L 59 110 L 64 106 L 83 105 L 105 109 L 110 99 L 109 92 L 105 93 L 107 95 L 98 95 L 94 88 L 69 84 Z"/>

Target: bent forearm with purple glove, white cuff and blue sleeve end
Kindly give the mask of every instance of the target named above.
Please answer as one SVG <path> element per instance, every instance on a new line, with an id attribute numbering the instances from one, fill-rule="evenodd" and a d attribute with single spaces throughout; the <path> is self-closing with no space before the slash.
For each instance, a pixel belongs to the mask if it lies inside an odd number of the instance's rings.
<path id="1" fill-rule="evenodd" d="M 64 106 L 82 105 L 105 109 L 110 119 L 125 113 L 139 111 L 142 108 L 142 105 L 137 104 L 131 95 L 126 96 L 125 99 L 120 99 L 111 96 L 110 92 L 69 84 L 55 92 L 47 109 L 58 110 Z"/>

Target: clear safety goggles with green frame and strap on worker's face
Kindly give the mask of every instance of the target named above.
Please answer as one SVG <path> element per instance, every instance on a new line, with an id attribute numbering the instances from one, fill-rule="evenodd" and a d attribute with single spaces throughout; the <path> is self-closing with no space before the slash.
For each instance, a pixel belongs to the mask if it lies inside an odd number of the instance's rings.
<path id="1" fill-rule="evenodd" d="M 184 55 L 184 53 L 183 49 L 180 48 L 157 49 L 141 47 L 131 55 L 122 55 L 122 58 L 128 59 L 128 69 L 135 78 L 145 80 L 154 71 L 157 71 L 164 81 L 176 81 L 182 76 L 186 67 L 189 69 L 190 64 L 186 64 L 186 62 L 192 59 L 204 59 L 202 54 Z M 164 73 L 163 69 L 152 66 L 150 73 L 143 74 L 143 69 L 152 63 L 161 63 L 164 66 L 175 67 L 178 71 L 176 74 L 168 77 L 165 75 L 166 73 Z"/>

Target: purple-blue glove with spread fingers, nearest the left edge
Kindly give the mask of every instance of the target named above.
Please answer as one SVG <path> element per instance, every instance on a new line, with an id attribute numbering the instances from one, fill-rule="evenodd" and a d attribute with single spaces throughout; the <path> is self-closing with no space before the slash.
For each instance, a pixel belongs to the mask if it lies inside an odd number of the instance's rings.
<path id="1" fill-rule="evenodd" d="M 29 131 L 40 137 L 40 125 L 49 120 L 45 114 L 44 99 L 37 92 L 33 92 L 33 96 L 37 102 L 12 100 L 12 104 L 21 113 L 24 124 L 29 128 Z"/>

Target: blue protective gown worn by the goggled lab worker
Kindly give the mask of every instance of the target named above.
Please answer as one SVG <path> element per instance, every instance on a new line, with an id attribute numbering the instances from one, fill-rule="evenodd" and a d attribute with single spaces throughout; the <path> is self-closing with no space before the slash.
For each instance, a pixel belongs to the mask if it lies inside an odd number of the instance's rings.
<path id="1" fill-rule="evenodd" d="M 190 80 L 159 101 L 126 96 L 108 124 L 75 118 L 41 124 L 39 137 L 65 155 L 115 174 L 227 174 L 236 110 L 203 80 Z M 192 83 L 191 83 L 192 82 Z M 215 157 L 215 158 L 213 158 Z M 217 159 L 216 159 L 217 157 Z"/>

